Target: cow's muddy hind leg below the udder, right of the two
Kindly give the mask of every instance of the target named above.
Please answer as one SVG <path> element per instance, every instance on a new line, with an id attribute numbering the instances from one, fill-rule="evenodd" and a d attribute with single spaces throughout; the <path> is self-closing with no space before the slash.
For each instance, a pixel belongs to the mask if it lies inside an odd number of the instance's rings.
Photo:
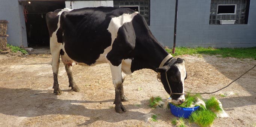
<path id="1" fill-rule="evenodd" d="M 77 87 L 76 83 L 74 82 L 73 76 L 72 76 L 72 64 L 65 64 L 65 70 L 66 70 L 67 76 L 68 76 L 68 82 L 69 82 L 68 87 L 71 87 L 71 90 L 74 92 L 79 92 L 80 89 Z"/>

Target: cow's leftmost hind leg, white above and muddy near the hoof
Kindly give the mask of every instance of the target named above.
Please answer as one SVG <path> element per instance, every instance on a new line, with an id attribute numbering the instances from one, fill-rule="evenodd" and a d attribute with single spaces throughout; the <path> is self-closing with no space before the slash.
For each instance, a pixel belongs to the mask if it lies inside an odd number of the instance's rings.
<path id="1" fill-rule="evenodd" d="M 52 49 L 52 48 L 51 48 Z M 58 83 L 58 72 L 59 72 L 59 66 L 60 66 L 60 51 L 56 51 L 52 53 L 52 71 L 53 71 L 53 75 L 54 75 L 54 85 L 53 85 L 53 89 L 54 89 L 54 94 L 55 95 L 61 95 L 61 89 L 59 87 L 59 83 Z"/>

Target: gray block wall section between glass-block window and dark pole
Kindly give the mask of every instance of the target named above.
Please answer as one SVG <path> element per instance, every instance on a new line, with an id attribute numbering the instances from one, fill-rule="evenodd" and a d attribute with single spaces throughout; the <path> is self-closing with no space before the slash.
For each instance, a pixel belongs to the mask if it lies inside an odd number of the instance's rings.
<path id="1" fill-rule="evenodd" d="M 175 0 L 150 0 L 150 30 L 164 46 L 173 42 Z"/>

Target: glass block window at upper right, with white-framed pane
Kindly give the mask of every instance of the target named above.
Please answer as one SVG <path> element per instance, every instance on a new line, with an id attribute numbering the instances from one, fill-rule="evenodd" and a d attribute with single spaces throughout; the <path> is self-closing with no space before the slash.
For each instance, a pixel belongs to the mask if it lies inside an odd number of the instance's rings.
<path id="1" fill-rule="evenodd" d="M 235 20 L 235 24 L 247 24 L 250 0 L 211 0 L 209 24 L 220 20 Z"/>

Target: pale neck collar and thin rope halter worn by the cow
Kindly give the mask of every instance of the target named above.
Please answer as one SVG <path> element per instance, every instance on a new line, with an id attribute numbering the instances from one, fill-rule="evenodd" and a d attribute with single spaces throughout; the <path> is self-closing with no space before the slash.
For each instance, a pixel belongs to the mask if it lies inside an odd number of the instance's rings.
<path id="1" fill-rule="evenodd" d="M 173 59 L 175 59 L 171 54 L 168 54 L 164 59 L 163 61 L 161 62 L 161 64 L 159 65 L 159 68 L 163 67 L 164 64 L 171 58 L 170 61 L 172 61 Z M 170 86 L 170 83 L 169 83 L 169 80 L 167 78 L 167 72 L 165 72 L 165 77 L 166 77 L 166 81 L 168 83 L 168 86 L 169 86 L 169 89 L 170 89 L 170 95 L 184 95 L 184 93 L 173 93 L 171 91 L 171 86 Z M 161 73 L 160 72 L 157 72 L 157 80 L 160 82 L 161 81 Z"/>

